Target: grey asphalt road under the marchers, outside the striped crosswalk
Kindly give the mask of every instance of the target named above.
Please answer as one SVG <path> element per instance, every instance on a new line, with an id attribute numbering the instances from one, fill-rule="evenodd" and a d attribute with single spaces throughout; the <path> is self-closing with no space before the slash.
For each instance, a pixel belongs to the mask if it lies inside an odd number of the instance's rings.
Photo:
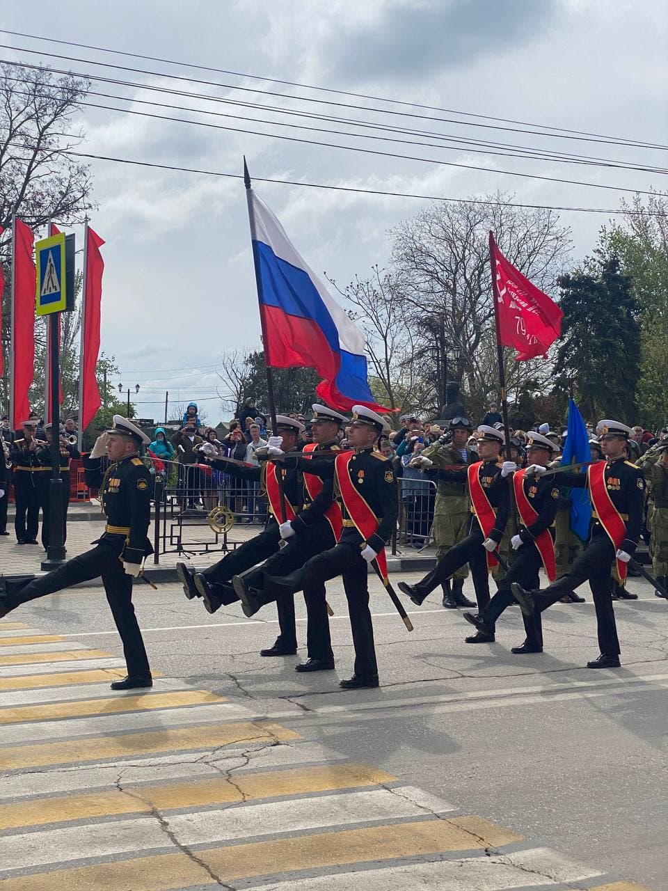
<path id="1" fill-rule="evenodd" d="M 411 606 L 415 631 L 408 634 L 376 580 L 370 584 L 381 680 L 379 690 L 371 691 L 338 690 L 353 661 L 338 582 L 328 585 L 337 670 L 320 674 L 295 673 L 303 650 L 299 657 L 259 657 L 277 634 L 273 608 L 257 620 L 235 607 L 210 617 L 175 585 L 153 591 L 139 584 L 135 603 L 151 665 L 167 679 L 210 691 L 346 762 L 371 764 L 411 789 L 517 833 L 532 850 L 547 848 L 585 864 L 591 875 L 668 891 L 668 603 L 648 584 L 631 580 L 639 601 L 615 604 L 623 667 L 592 671 L 583 667 L 598 655 L 589 592 L 586 603 L 557 604 L 545 615 L 545 653 L 513 656 L 510 646 L 523 640 L 517 608 L 501 617 L 496 643 L 471 646 L 463 642 L 470 626 L 442 609 L 436 594 L 420 609 Z M 303 604 L 297 616 L 303 642 Z M 99 587 L 34 601 L 10 619 L 122 655 Z M 1 626 L 0 633 L 11 634 Z M 43 648 L 49 646 L 60 644 Z M 2 751 L 0 745 L 0 756 Z M 31 795 L 40 795 L 39 783 L 33 774 Z M 6 804 L 20 797 L 5 796 Z M 541 866 L 523 867 L 533 876 L 527 886 L 550 879 L 549 887 L 602 887 L 603 879 L 571 877 L 569 884 L 557 866 L 553 875 L 549 852 Z M 294 873 L 285 871 L 286 887 L 302 887 Z M 394 876 L 387 887 L 413 887 L 412 881 Z M 428 872 L 420 881 L 415 887 L 451 887 Z"/>

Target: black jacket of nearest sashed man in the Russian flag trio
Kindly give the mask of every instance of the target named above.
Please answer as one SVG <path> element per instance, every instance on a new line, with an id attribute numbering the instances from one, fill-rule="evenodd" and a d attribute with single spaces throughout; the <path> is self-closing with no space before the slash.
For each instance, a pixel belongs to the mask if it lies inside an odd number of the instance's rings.
<path id="1" fill-rule="evenodd" d="M 303 472 L 315 472 L 321 479 L 334 479 L 334 463 L 327 457 L 303 458 L 286 455 L 282 459 L 290 467 L 296 467 Z M 396 527 L 398 512 L 398 498 L 396 491 L 395 471 L 391 462 L 388 462 L 373 446 L 364 449 L 355 449 L 348 463 L 350 478 L 353 485 L 363 495 L 364 500 L 378 519 L 378 530 L 365 540 L 376 553 L 387 544 Z M 327 486 L 325 486 L 327 488 Z M 325 489 L 323 489 L 324 493 Z M 333 491 L 341 505 L 344 523 L 351 519 L 346 509 L 343 496 L 338 491 Z M 315 505 L 314 505 L 315 506 Z M 313 507 L 310 509 L 313 510 Z"/>

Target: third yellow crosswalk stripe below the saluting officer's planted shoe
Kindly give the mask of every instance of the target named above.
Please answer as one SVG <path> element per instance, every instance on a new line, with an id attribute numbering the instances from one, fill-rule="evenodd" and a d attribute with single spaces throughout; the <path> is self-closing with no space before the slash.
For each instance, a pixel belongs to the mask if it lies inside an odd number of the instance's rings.
<path id="1" fill-rule="evenodd" d="M 233 781 L 216 779 L 137 786 L 86 795 L 39 798 L 0 805 L 0 830 L 40 826 L 66 820 L 110 817 L 120 813 L 151 813 L 199 805 L 220 805 L 283 795 L 305 795 L 332 789 L 354 789 L 393 782 L 395 777 L 366 764 L 327 764 L 297 770 L 240 773 Z"/>

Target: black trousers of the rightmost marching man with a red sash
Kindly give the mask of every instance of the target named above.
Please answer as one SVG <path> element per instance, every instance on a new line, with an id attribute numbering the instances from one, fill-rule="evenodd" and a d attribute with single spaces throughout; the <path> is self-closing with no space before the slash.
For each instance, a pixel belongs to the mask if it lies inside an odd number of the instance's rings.
<path id="1" fill-rule="evenodd" d="M 560 601 L 566 594 L 574 592 L 583 582 L 589 582 L 596 608 L 599 648 L 606 656 L 619 656 L 619 639 L 615 625 L 615 609 L 613 609 L 610 591 L 610 569 L 615 560 L 615 545 L 607 536 L 606 530 L 598 520 L 591 529 L 591 539 L 565 576 L 544 591 L 534 591 L 536 610 L 542 612 L 553 603 Z"/>

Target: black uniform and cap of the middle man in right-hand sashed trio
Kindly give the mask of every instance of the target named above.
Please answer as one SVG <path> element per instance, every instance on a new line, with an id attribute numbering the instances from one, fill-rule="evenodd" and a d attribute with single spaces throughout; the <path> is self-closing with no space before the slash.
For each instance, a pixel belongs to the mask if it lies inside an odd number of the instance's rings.
<path id="1" fill-rule="evenodd" d="M 553 454 L 553 444 L 540 434 L 529 434 L 529 448 L 533 445 L 544 447 L 550 455 Z M 507 478 L 501 478 L 500 473 L 496 485 L 508 488 L 509 481 Z M 494 594 L 492 600 L 477 616 L 466 612 L 463 614 L 468 622 L 475 625 L 478 631 L 483 634 L 493 635 L 494 623 L 501 613 L 515 602 L 510 589 L 513 582 L 521 584 L 523 588 L 537 588 L 540 584 L 538 572 L 542 567 L 542 559 L 535 545 L 538 535 L 548 529 L 552 541 L 554 541 L 554 520 L 559 506 L 559 490 L 555 485 L 555 478 L 553 476 L 537 478 L 525 475 L 522 487 L 527 501 L 531 503 L 538 516 L 534 523 L 528 527 L 521 522 L 518 523 L 517 535 L 519 535 L 522 544 L 515 550 L 510 570 L 501 579 L 499 590 Z M 542 652 L 541 614 L 534 611 L 530 616 L 525 616 L 523 613 L 522 617 L 524 618 L 526 639 L 521 646 L 513 647 L 511 652 L 518 654 Z"/>

